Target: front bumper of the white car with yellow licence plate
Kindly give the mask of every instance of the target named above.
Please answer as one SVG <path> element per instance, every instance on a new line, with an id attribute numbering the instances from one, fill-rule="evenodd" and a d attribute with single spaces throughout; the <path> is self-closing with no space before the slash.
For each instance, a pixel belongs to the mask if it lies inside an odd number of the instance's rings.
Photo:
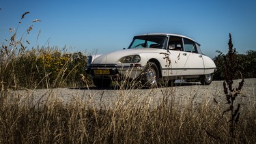
<path id="1" fill-rule="evenodd" d="M 139 64 L 131 64 L 130 66 L 117 66 L 116 64 L 91 64 L 85 68 L 87 74 L 96 77 L 113 77 L 121 76 L 125 78 L 137 78 L 144 67 Z"/>

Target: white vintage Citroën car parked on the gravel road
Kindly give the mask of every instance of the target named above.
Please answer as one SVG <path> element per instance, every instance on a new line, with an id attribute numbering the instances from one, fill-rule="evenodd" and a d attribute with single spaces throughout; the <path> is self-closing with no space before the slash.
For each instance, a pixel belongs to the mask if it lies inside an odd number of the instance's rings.
<path id="1" fill-rule="evenodd" d="M 210 85 L 216 65 L 191 38 L 150 33 L 134 36 L 127 49 L 90 55 L 85 70 L 96 87 L 109 87 L 112 81 L 124 78 L 147 87 L 181 78 L 200 78 L 202 85 Z"/>

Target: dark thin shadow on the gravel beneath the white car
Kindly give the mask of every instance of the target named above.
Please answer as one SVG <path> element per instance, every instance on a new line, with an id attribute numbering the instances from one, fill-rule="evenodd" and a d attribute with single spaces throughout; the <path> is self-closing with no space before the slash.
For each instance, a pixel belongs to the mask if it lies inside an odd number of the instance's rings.
<path id="1" fill-rule="evenodd" d="M 103 87 L 99 88 L 96 86 L 90 86 L 90 87 L 70 87 L 69 89 L 80 89 L 80 90 L 120 90 L 120 89 L 157 89 L 157 88 L 167 88 L 167 87 L 187 87 L 187 86 L 193 86 L 193 85 L 201 85 L 201 83 L 173 83 L 171 86 L 166 85 L 158 85 L 158 87 L 125 87 L 121 88 L 119 86 L 111 86 L 111 87 Z"/>

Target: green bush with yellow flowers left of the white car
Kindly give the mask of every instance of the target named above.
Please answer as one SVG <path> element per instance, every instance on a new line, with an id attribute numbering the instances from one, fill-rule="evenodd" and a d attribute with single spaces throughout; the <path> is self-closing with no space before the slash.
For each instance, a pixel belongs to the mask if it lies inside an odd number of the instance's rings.
<path id="1" fill-rule="evenodd" d="M 17 89 L 83 86 L 80 74 L 85 74 L 87 56 L 68 54 L 57 48 L 25 51 L 10 60 L 3 81 Z"/>

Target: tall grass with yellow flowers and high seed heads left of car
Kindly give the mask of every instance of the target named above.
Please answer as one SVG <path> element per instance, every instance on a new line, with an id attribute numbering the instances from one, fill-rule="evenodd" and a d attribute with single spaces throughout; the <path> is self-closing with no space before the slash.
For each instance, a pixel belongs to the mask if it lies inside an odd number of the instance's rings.
<path id="1" fill-rule="evenodd" d="M 25 12 L 13 31 L 12 37 L 3 42 L 0 51 L 1 88 L 38 89 L 82 86 L 80 74 L 85 73 L 87 56 L 83 53 L 67 53 L 68 49 L 57 46 L 30 46 L 27 35 L 18 35 L 18 28 L 25 18 Z M 35 19 L 33 23 L 39 22 Z M 40 33 L 38 34 L 40 35 Z"/>

